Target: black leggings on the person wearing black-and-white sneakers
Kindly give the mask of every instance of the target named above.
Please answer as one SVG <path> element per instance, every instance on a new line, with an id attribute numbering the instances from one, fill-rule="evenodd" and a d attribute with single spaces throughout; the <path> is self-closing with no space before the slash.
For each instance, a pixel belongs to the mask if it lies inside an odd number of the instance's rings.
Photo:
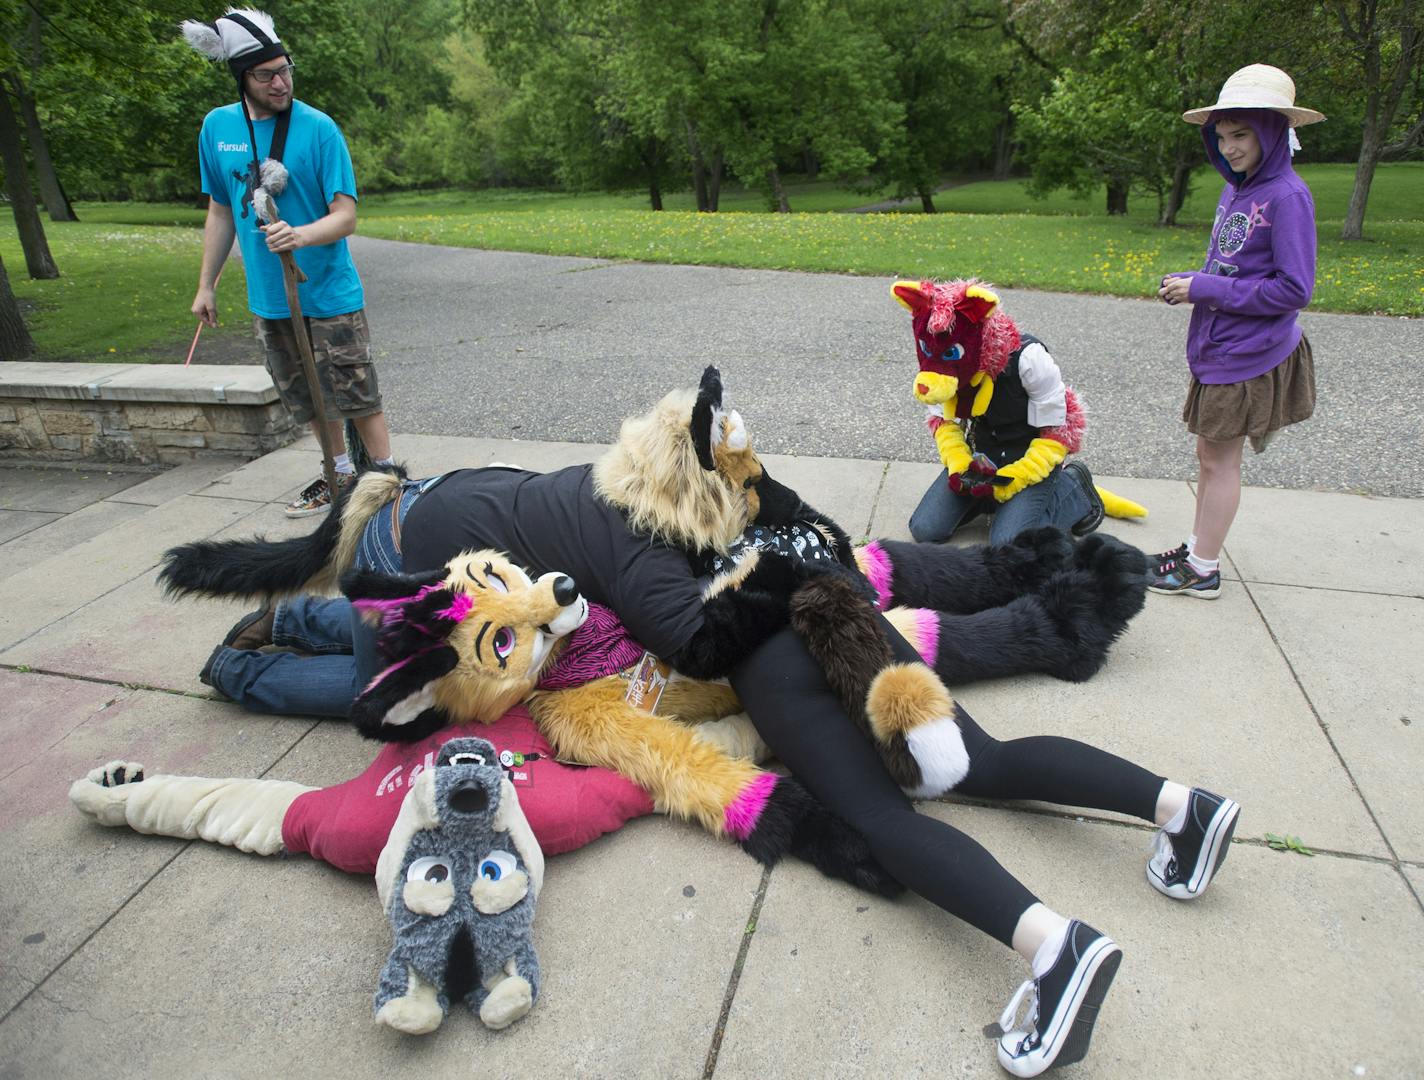
<path id="1" fill-rule="evenodd" d="M 896 660 L 918 660 L 889 623 Z M 732 674 L 772 752 L 830 811 L 870 842 L 900 882 L 1012 947 L 1020 916 L 1038 898 L 953 825 L 917 814 L 846 715 L 806 645 L 782 631 Z M 1084 742 L 1038 735 L 1000 742 L 973 720 L 961 724 L 970 772 L 956 792 L 1041 799 L 1152 821 L 1163 778 Z"/>

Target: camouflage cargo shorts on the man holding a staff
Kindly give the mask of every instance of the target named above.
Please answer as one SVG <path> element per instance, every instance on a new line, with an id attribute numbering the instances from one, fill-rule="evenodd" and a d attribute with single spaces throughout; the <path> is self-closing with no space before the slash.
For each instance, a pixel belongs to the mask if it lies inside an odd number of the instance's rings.
<path id="1" fill-rule="evenodd" d="M 290 319 L 252 319 L 258 342 L 266 355 L 266 369 L 276 383 L 282 405 L 298 423 L 312 419 L 312 398 L 302 372 L 302 353 Z M 353 311 L 329 319 L 306 319 L 312 333 L 316 378 L 328 419 L 352 420 L 382 410 L 376 366 L 370 359 L 370 328 L 366 312 Z"/>

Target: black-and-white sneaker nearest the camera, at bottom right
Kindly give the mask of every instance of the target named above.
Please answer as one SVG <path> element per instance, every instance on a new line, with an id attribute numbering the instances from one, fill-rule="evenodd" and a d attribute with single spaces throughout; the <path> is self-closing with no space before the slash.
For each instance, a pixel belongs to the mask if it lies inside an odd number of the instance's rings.
<path id="1" fill-rule="evenodd" d="M 1004 1030 L 998 1063 L 1014 1076 L 1038 1076 L 1081 1061 L 1119 963 L 1122 949 L 1108 935 L 1078 919 L 1068 923 L 1054 966 L 1020 986 L 998 1019 Z M 1020 1026 L 1018 1012 L 1028 995 L 1032 1009 Z"/>

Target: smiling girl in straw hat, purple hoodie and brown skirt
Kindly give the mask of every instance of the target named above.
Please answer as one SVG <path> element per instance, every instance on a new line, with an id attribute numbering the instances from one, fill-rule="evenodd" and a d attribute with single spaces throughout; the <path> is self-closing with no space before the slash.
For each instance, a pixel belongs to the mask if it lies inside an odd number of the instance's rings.
<path id="1" fill-rule="evenodd" d="M 1324 120 L 1296 105 L 1276 67 L 1236 71 L 1216 104 L 1182 114 L 1202 125 L 1206 157 L 1226 180 L 1206 265 L 1169 274 L 1158 295 L 1190 303 L 1192 382 L 1182 419 L 1196 436 L 1196 517 L 1185 543 L 1155 556 L 1153 593 L 1220 596 L 1226 531 L 1242 494 L 1242 447 L 1260 453 L 1316 407 L 1310 342 L 1296 315 L 1316 285 L 1316 207 L 1290 167 L 1294 128 Z"/>

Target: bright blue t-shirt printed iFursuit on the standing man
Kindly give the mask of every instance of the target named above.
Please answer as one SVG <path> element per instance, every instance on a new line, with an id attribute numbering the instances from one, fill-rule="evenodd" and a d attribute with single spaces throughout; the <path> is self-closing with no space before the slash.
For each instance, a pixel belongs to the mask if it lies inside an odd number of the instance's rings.
<path id="1" fill-rule="evenodd" d="M 256 120 L 252 127 L 258 137 L 258 160 L 263 161 L 272 150 L 276 118 Z M 204 118 L 202 133 L 198 135 L 198 161 L 204 192 L 215 202 L 232 208 L 232 222 L 238 228 L 242 262 L 248 271 L 248 306 L 253 315 L 265 319 L 290 316 L 282 285 L 282 261 L 268 251 L 266 237 L 258 228 L 252 205 L 244 207 L 242 202 L 252 148 L 248 145 L 248 124 L 242 118 L 241 104 L 215 108 Z M 276 197 L 276 207 L 282 219 L 290 225 L 308 225 L 325 218 L 337 192 L 356 198 L 356 172 L 346 140 L 336 121 L 318 108 L 300 101 L 292 103 L 292 123 L 286 131 L 282 164 L 286 165 L 289 180 L 286 191 Z M 242 215 L 244 209 L 246 217 Z M 366 306 L 356 264 L 352 262 L 345 238 L 335 244 L 300 248 L 295 255 L 296 265 L 306 274 L 306 281 L 298 286 L 303 315 L 328 319 Z"/>

